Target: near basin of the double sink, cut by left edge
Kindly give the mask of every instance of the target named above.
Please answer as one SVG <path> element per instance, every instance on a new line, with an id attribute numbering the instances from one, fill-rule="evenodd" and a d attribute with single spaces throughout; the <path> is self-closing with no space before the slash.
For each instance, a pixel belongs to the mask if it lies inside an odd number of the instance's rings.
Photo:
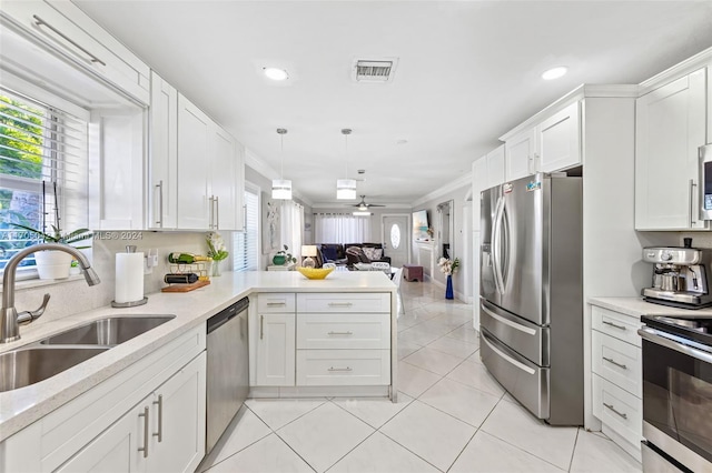
<path id="1" fill-rule="evenodd" d="M 0 392 L 39 383 L 109 350 L 108 346 L 31 346 L 0 354 Z"/>

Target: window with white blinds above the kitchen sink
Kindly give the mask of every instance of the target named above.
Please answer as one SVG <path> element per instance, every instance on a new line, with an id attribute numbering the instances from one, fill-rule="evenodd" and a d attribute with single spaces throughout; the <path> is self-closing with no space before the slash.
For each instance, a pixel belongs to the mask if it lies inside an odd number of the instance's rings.
<path id="1" fill-rule="evenodd" d="M 0 84 L 0 269 L 42 241 L 13 223 L 50 234 L 86 227 L 87 137 L 83 119 Z"/>

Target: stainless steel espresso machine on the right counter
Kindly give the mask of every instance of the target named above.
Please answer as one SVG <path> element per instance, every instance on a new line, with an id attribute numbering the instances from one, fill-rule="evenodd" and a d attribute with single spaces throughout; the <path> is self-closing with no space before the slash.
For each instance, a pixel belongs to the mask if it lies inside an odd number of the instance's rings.
<path id="1" fill-rule="evenodd" d="M 643 261 L 653 263 L 652 288 L 644 288 L 643 299 L 657 304 L 684 309 L 712 305 L 709 294 L 708 251 L 692 248 L 686 238 L 684 248 L 656 246 L 643 249 Z"/>

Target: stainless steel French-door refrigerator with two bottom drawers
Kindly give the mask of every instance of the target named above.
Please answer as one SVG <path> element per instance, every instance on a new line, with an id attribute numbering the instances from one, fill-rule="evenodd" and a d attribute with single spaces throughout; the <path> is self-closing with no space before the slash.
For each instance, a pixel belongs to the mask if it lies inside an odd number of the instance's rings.
<path id="1" fill-rule="evenodd" d="M 482 192 L 481 358 L 534 415 L 583 424 L 582 180 Z"/>

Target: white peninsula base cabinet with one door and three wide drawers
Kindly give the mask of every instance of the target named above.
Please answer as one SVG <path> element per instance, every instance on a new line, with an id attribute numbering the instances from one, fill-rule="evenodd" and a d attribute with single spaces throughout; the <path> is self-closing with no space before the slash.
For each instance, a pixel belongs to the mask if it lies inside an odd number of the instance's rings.
<path id="1" fill-rule="evenodd" d="M 390 384 L 390 293 L 261 293 L 256 306 L 255 386 Z"/>

